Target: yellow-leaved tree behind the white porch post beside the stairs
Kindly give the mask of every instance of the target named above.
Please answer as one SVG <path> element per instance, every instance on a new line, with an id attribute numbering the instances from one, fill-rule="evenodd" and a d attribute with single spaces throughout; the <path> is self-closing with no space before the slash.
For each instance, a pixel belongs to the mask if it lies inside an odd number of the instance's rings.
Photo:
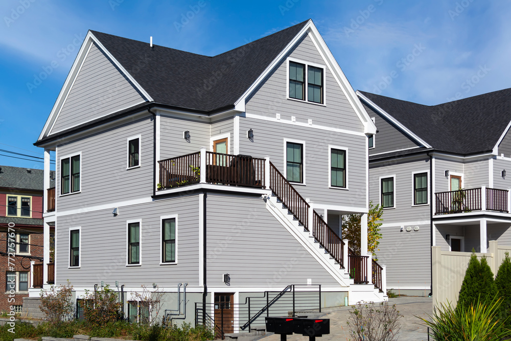
<path id="1" fill-rule="evenodd" d="M 342 217 L 342 238 L 348 239 L 348 246 L 357 255 L 360 255 L 360 219 L 361 214 L 348 214 Z M 367 251 L 376 256 L 380 244 L 380 226 L 382 225 L 383 207 L 380 204 L 373 205 L 369 202 L 367 214 Z"/>

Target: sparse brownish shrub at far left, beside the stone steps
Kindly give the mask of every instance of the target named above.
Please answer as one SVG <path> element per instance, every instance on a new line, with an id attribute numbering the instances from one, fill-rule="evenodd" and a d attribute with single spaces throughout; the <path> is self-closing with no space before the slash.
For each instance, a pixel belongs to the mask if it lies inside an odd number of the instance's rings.
<path id="1" fill-rule="evenodd" d="M 73 286 L 69 281 L 58 288 L 51 286 L 50 290 L 41 290 L 41 305 L 39 309 L 52 324 L 71 320 L 75 312 L 73 302 Z"/>

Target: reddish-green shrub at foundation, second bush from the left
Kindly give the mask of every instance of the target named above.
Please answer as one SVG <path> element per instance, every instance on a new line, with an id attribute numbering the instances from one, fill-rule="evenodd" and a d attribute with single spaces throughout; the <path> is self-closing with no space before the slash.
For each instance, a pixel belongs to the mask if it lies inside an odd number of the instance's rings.
<path id="1" fill-rule="evenodd" d="M 85 320 L 93 326 L 100 327 L 123 319 L 119 295 L 108 285 L 94 292 L 85 290 L 82 305 Z"/>

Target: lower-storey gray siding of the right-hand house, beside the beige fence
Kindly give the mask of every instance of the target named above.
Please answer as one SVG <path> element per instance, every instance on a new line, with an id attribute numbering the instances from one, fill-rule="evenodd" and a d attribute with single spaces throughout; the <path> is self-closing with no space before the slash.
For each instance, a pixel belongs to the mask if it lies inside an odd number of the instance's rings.
<path id="1" fill-rule="evenodd" d="M 419 231 L 412 229 L 410 232 L 401 232 L 400 225 L 381 229 L 382 238 L 376 254 L 378 263 L 387 266 L 389 288 L 431 284 L 430 225 L 418 226 Z"/>

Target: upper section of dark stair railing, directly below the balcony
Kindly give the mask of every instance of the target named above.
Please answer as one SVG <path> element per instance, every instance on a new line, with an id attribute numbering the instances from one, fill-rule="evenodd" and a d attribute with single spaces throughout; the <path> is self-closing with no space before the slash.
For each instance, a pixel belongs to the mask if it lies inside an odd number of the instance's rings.
<path id="1" fill-rule="evenodd" d="M 309 203 L 305 201 L 271 162 L 270 189 L 277 199 L 289 209 L 298 222 L 304 225 L 305 230 L 309 231 Z"/>

